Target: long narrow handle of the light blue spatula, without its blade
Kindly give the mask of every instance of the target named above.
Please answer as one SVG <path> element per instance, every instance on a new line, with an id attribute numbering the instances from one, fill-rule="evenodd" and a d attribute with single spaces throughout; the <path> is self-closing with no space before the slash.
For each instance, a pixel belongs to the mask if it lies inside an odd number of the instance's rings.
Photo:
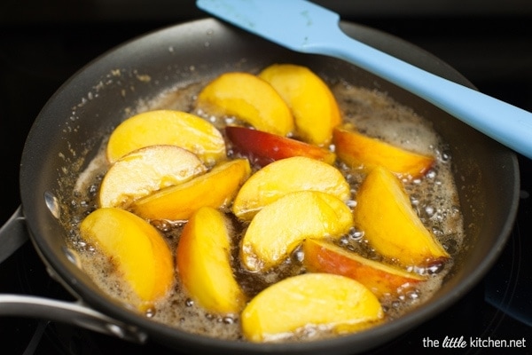
<path id="1" fill-rule="evenodd" d="M 309 43 L 306 51 L 328 54 L 362 67 L 532 159 L 532 114 L 528 111 L 414 67 L 346 36 L 340 28 L 324 31 L 327 40 Z"/>

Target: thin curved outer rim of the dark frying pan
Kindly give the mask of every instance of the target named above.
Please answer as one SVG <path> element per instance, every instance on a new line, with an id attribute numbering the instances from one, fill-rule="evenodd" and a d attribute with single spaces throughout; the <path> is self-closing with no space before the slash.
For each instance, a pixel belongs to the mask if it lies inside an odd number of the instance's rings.
<path id="1" fill-rule="evenodd" d="M 58 105 L 58 100 L 61 99 L 61 95 L 64 91 L 68 91 L 72 85 L 76 85 L 81 80 L 84 80 L 83 77 L 93 75 L 91 70 L 94 65 L 100 63 L 102 60 L 111 60 L 118 52 L 129 51 L 131 45 L 135 45 L 138 41 L 149 41 L 153 36 L 160 36 L 161 33 L 172 33 L 176 28 L 184 28 L 183 26 L 193 26 L 194 24 L 215 24 L 216 27 L 222 28 L 231 28 L 228 25 L 222 24 L 218 20 L 211 18 L 194 20 L 191 22 L 186 22 L 184 24 L 178 24 L 170 26 L 168 28 L 162 28 L 155 30 L 143 36 L 138 36 L 126 43 L 122 43 L 118 47 L 104 53 L 102 56 L 99 56 L 97 59 L 92 60 L 87 66 L 82 67 L 76 74 L 74 74 L 66 83 L 61 85 L 59 90 L 51 97 L 49 103 L 43 107 L 43 111 L 38 115 L 35 120 L 34 127 L 30 130 L 30 133 L 27 138 L 27 144 L 23 151 L 23 158 L 20 167 L 20 191 L 22 194 L 22 205 L 24 210 L 24 215 L 27 217 L 27 225 L 30 230 L 31 240 L 35 245 L 35 248 L 39 250 L 41 257 L 46 260 L 46 263 L 51 266 L 51 268 L 58 274 L 61 280 L 66 282 L 68 288 L 70 288 L 76 295 L 81 297 L 81 299 L 89 304 L 91 307 L 95 307 L 99 311 L 105 312 L 106 314 L 113 316 L 117 319 L 125 319 L 131 324 L 138 325 L 139 327 L 145 329 L 150 335 L 154 338 L 160 339 L 163 342 L 170 340 L 170 343 L 188 343 L 197 347 L 203 347 L 202 343 L 208 343 L 207 349 L 212 349 L 213 346 L 216 351 L 230 351 L 235 353 L 235 351 L 242 351 L 242 353 L 248 353 L 249 351 L 254 352 L 292 352 L 297 353 L 298 351 L 330 351 L 331 349 L 345 349 L 346 346 L 352 345 L 354 343 L 359 343 L 358 339 L 365 339 L 366 343 L 368 339 L 379 340 L 383 337 L 389 337 L 389 335 L 399 335 L 403 333 L 405 327 L 414 327 L 419 325 L 426 319 L 427 315 L 437 314 L 442 312 L 443 309 L 454 304 L 458 299 L 465 295 L 465 293 L 473 288 L 473 286 L 481 280 L 481 277 L 488 272 L 489 267 L 497 261 L 497 257 L 502 252 L 502 249 L 505 246 L 506 241 L 509 238 L 509 235 L 512 231 L 513 221 L 517 215 L 518 203 L 519 201 L 519 165 L 517 162 L 517 157 L 515 154 L 506 150 L 506 148 L 500 148 L 500 154 L 505 155 L 505 161 L 509 164 L 507 169 L 512 171 L 512 196 L 509 197 L 514 203 L 511 205 L 511 209 L 507 211 L 507 218 L 505 219 L 505 225 L 502 226 L 500 231 L 500 237 L 497 240 L 496 245 L 489 250 L 489 254 L 486 257 L 486 260 L 480 264 L 472 274 L 468 275 L 465 280 L 459 284 L 457 289 L 450 294 L 448 297 L 443 297 L 442 299 L 436 300 L 436 302 L 429 302 L 424 304 L 419 310 L 413 311 L 400 319 L 396 319 L 392 322 L 384 324 L 379 327 L 369 329 L 361 334 L 346 335 L 339 338 L 328 339 L 323 341 L 317 341 L 312 343 L 280 343 L 280 344 L 254 344 L 254 343 L 244 343 L 244 342 L 234 342 L 234 341 L 225 341 L 220 339 L 213 339 L 204 335 L 194 335 L 186 333 L 183 330 L 176 329 L 174 327 L 168 327 L 159 323 L 155 323 L 152 320 L 145 319 L 139 316 L 135 312 L 129 312 L 126 309 L 123 309 L 117 304 L 110 303 L 108 299 L 95 294 L 92 288 L 86 287 L 86 285 L 79 282 L 76 278 L 76 275 L 70 272 L 69 268 L 66 268 L 64 264 L 59 263 L 57 258 L 54 257 L 56 252 L 51 248 L 47 243 L 43 243 L 43 239 L 39 237 L 41 229 L 43 226 L 38 222 L 42 221 L 43 217 L 38 216 L 35 213 L 35 196 L 31 191 L 28 191 L 27 185 L 29 181 L 34 178 L 31 165 L 32 162 L 35 162 L 39 159 L 39 152 L 42 149 L 41 139 L 43 131 L 49 130 L 50 120 L 47 119 L 50 115 L 50 111 L 61 109 L 66 111 L 70 107 L 65 106 L 64 103 L 59 103 L 59 108 L 54 107 L 53 105 Z M 346 26 L 356 28 L 365 28 L 362 25 L 357 25 L 354 23 L 346 23 Z M 406 42 L 395 39 L 395 37 L 379 32 L 372 28 L 366 28 L 365 30 L 368 33 L 380 33 L 379 36 L 384 36 L 387 40 L 391 42 L 400 41 L 402 45 L 406 45 Z M 391 39 L 390 39 L 391 38 Z M 409 44 L 412 48 L 416 48 L 416 51 L 419 50 L 417 47 Z M 434 57 L 431 57 L 434 58 Z M 446 67 L 446 65 L 444 66 Z M 448 69 L 452 69 L 448 67 Z M 452 69 L 454 71 L 454 69 Z M 459 78 L 460 75 L 457 75 Z M 465 80 L 465 78 L 464 78 Z M 465 81 L 466 84 L 471 85 L 471 83 Z M 40 197 L 38 197 L 40 198 Z M 360 349 L 360 351 L 367 350 L 369 348 Z M 301 352 L 302 353 L 302 352 Z"/>

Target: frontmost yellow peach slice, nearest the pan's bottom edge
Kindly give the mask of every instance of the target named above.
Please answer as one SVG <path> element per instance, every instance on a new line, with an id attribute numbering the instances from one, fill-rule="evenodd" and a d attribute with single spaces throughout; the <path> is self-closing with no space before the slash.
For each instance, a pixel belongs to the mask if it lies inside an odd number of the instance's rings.
<path id="1" fill-rule="evenodd" d="M 383 318 L 379 300 L 368 288 L 330 273 L 281 280 L 254 296 L 241 315 L 242 331 L 255 343 L 278 340 L 305 327 L 352 333 Z"/>

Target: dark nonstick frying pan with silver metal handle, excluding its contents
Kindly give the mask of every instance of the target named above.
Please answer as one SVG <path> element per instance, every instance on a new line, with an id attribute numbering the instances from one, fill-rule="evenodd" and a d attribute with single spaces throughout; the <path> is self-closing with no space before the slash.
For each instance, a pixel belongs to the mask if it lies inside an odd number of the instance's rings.
<path id="1" fill-rule="evenodd" d="M 350 22 L 341 28 L 436 75 L 473 87 L 434 56 L 394 36 Z M 99 290 L 68 247 L 66 221 L 74 213 L 75 178 L 106 135 L 161 92 L 214 78 L 229 70 L 257 71 L 274 62 L 298 63 L 319 75 L 387 92 L 431 120 L 449 146 L 467 234 L 465 252 L 430 302 L 382 326 L 310 343 L 223 341 L 168 327 L 139 315 Z M 473 288 L 495 263 L 518 207 L 519 167 L 512 151 L 409 92 L 339 59 L 280 48 L 217 20 L 163 28 L 95 59 L 51 97 L 30 130 L 20 164 L 21 206 L 0 230 L 0 260 L 25 239 L 48 272 L 76 302 L 34 296 L 0 296 L 0 314 L 68 322 L 136 342 L 151 338 L 176 351 L 196 353 L 354 353 L 392 340 L 443 312 Z"/>

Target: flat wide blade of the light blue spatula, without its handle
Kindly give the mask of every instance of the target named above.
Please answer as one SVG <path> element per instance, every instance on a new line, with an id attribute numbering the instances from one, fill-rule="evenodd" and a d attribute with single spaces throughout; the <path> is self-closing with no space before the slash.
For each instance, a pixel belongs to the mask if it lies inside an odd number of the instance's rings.
<path id="1" fill-rule="evenodd" d="M 330 39 L 329 31 L 340 32 L 338 13 L 305 0 L 198 0 L 196 4 L 215 17 L 293 51 L 314 52 L 315 45 Z"/>

